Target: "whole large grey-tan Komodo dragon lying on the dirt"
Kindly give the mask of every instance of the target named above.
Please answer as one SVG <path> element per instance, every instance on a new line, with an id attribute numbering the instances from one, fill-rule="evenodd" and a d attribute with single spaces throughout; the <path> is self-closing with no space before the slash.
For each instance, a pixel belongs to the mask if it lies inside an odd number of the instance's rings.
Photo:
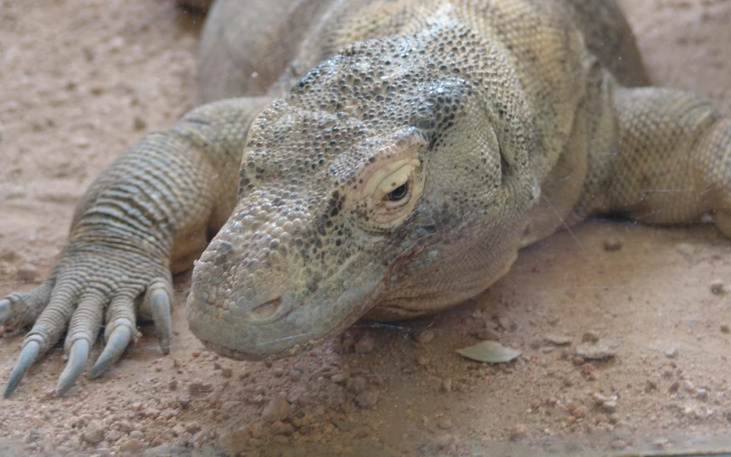
<path id="1" fill-rule="evenodd" d="M 731 236 L 731 117 L 644 87 L 611 0 L 220 0 L 201 48 L 208 103 L 102 173 L 49 278 L 0 300 L 34 322 L 5 396 L 67 328 L 59 395 L 103 322 L 92 378 L 137 312 L 169 350 L 192 265 L 193 333 L 257 359 L 460 303 L 587 216 Z"/>

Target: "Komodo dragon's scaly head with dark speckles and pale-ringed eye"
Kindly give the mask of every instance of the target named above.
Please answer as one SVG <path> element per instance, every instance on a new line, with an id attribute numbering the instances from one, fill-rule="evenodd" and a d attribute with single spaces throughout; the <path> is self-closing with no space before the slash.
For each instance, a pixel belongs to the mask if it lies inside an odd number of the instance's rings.
<path id="1" fill-rule="evenodd" d="M 530 118 L 499 54 L 445 33 L 356 43 L 253 121 L 236 209 L 193 270 L 188 320 L 211 349 L 293 354 L 511 266 L 539 194 Z"/>

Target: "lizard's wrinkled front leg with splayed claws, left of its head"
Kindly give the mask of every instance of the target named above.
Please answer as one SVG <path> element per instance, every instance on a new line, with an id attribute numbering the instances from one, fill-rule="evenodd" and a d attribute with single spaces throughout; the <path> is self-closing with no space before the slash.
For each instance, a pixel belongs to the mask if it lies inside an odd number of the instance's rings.
<path id="1" fill-rule="evenodd" d="M 107 344 L 91 378 L 127 348 L 137 312 L 153 319 L 163 351 L 170 350 L 171 265 L 176 271 L 192 266 L 206 232 L 228 219 L 248 126 L 266 102 L 239 98 L 194 109 L 169 130 L 145 136 L 101 173 L 77 206 L 49 278 L 31 292 L 0 299 L 0 323 L 34 322 L 5 396 L 67 326 L 69 362 L 57 395 L 86 366 L 103 321 Z"/>

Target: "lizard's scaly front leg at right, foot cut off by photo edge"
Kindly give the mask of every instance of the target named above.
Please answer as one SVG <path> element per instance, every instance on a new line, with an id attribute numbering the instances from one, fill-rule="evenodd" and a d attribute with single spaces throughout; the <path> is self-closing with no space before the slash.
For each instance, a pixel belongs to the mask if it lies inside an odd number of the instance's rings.
<path id="1" fill-rule="evenodd" d="M 675 89 L 616 88 L 613 103 L 616 122 L 596 135 L 615 135 L 616 150 L 590 158 L 579 207 L 659 224 L 710 212 L 731 238 L 731 116 Z"/>

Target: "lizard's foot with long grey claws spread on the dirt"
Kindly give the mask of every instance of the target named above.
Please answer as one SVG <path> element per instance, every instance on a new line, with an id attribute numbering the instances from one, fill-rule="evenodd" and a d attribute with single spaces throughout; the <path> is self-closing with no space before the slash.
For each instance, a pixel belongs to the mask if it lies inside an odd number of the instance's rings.
<path id="1" fill-rule="evenodd" d="M 86 367 L 89 350 L 105 318 L 106 345 L 89 378 L 101 376 L 127 349 L 136 335 L 137 312 L 152 318 L 160 347 L 165 354 L 170 351 L 173 287 L 167 260 L 155 262 L 149 256 L 129 252 L 124 257 L 127 261 L 110 263 L 89 252 L 64 254 L 43 284 L 30 292 L 0 299 L 0 324 L 22 327 L 34 322 L 8 378 L 5 398 L 13 394 L 28 368 L 59 340 L 64 330 L 69 361 L 59 378 L 56 395 L 67 392 Z"/>

